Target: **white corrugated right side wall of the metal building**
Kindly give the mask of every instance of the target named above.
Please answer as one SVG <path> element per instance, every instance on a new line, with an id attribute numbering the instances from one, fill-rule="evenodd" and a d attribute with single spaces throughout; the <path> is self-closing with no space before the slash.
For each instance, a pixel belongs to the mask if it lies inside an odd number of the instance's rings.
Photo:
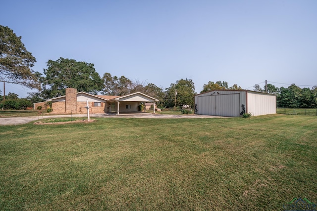
<path id="1" fill-rule="evenodd" d="M 276 96 L 259 92 L 248 92 L 248 113 L 253 116 L 275 114 Z"/>

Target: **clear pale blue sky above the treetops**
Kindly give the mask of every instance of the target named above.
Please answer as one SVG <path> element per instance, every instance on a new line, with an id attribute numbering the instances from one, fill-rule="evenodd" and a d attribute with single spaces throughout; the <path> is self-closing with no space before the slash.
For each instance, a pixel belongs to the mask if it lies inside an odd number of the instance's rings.
<path id="1" fill-rule="evenodd" d="M 0 24 L 22 36 L 34 71 L 63 57 L 162 88 L 192 79 L 199 93 L 209 81 L 316 85 L 316 11 L 317 0 L 7 0 Z"/>

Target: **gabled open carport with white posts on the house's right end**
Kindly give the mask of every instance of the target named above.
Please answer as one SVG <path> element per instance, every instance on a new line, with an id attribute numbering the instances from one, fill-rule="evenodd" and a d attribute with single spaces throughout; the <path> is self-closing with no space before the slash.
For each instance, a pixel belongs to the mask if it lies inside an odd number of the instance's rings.
<path id="1" fill-rule="evenodd" d="M 139 105 L 141 105 L 142 103 L 153 103 L 153 106 L 155 107 L 155 102 L 158 101 L 158 99 L 150 97 L 141 92 L 118 96 L 114 99 L 109 100 L 109 112 L 116 113 L 117 115 L 120 115 L 120 112 L 137 113 L 139 112 Z"/>

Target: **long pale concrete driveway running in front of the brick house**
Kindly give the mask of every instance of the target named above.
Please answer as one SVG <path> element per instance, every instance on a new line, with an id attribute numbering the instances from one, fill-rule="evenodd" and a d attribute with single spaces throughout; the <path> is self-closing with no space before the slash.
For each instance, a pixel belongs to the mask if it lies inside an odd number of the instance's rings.
<path id="1" fill-rule="evenodd" d="M 73 114 L 73 117 L 87 118 L 87 114 Z M 3 117 L 0 118 L 0 125 L 21 125 L 36 120 L 52 119 L 52 118 L 63 118 L 71 117 L 71 115 L 51 115 L 51 116 L 40 116 L 40 117 Z M 208 116 L 208 115 L 168 115 L 168 114 L 149 114 L 149 113 L 126 113 L 126 114 L 92 114 L 91 118 L 152 118 L 152 119 L 180 119 L 180 118 L 226 118 L 219 116 Z"/>

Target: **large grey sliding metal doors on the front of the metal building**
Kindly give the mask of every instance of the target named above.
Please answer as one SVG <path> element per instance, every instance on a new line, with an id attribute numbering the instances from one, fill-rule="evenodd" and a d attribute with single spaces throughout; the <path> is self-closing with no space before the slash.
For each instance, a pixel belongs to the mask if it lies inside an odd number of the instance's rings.
<path id="1" fill-rule="evenodd" d="M 240 115 L 240 94 L 223 94 L 198 97 L 198 114 L 238 117 Z"/>

